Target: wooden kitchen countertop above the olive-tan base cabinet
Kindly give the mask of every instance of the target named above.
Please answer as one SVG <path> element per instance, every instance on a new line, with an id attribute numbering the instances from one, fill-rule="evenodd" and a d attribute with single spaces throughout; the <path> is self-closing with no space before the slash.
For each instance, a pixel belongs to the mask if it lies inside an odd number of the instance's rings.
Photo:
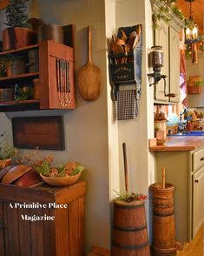
<path id="1" fill-rule="evenodd" d="M 149 147 L 150 152 L 186 152 L 204 146 L 204 136 L 168 137 L 165 145 Z"/>

